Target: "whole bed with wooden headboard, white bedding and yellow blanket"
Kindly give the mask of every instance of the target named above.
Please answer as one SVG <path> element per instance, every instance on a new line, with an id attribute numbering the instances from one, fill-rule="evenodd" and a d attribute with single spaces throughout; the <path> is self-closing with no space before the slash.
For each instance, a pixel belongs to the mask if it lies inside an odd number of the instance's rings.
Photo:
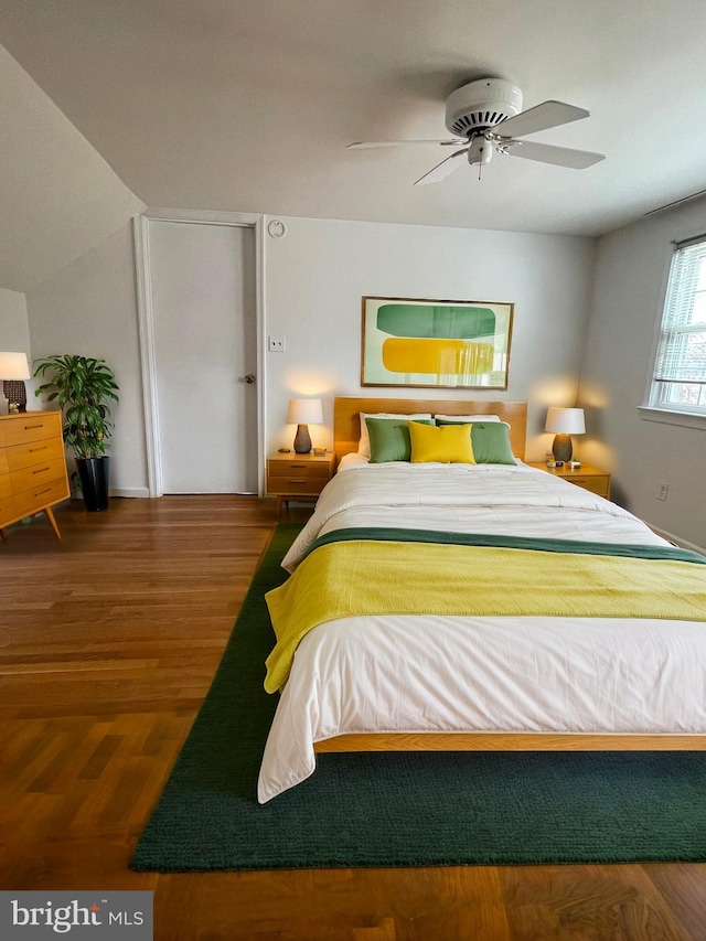
<path id="1" fill-rule="evenodd" d="M 419 461 L 389 430 L 410 415 Z M 463 435 L 479 462 L 434 460 Z M 706 559 L 525 437 L 524 403 L 334 400 L 339 470 L 267 596 L 261 803 L 321 751 L 706 748 Z"/>

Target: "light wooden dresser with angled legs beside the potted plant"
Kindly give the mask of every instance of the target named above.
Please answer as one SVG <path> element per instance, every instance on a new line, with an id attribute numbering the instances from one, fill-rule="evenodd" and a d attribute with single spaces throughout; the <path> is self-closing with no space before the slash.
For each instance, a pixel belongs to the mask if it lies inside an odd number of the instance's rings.
<path id="1" fill-rule="evenodd" d="M 68 495 L 61 411 L 0 415 L 0 537 L 44 512 L 61 539 L 52 506 Z"/>

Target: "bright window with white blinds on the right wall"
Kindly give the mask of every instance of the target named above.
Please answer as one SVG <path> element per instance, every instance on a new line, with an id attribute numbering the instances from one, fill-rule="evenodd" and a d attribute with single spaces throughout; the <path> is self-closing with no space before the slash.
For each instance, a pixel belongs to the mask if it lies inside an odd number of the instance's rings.
<path id="1" fill-rule="evenodd" d="M 706 415 L 706 236 L 676 245 L 650 405 Z"/>

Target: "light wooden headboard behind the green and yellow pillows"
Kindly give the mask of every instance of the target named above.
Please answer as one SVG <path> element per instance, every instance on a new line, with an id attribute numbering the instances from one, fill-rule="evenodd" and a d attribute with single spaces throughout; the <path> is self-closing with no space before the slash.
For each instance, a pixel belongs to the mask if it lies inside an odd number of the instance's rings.
<path id="1" fill-rule="evenodd" d="M 361 437 L 361 411 L 389 411 L 402 415 L 430 411 L 431 415 L 499 415 L 510 425 L 510 441 L 515 457 L 524 461 L 527 437 L 526 402 L 473 402 L 440 398 L 349 398 L 333 399 L 333 448 L 336 462 L 343 455 L 357 451 Z"/>

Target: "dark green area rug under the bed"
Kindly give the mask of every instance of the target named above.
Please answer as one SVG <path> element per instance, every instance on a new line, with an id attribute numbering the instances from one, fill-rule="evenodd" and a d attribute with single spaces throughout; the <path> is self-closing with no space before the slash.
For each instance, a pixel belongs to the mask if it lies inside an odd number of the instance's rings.
<path id="1" fill-rule="evenodd" d="M 260 806 L 280 524 L 131 863 L 137 870 L 706 860 L 706 753 L 321 755 Z"/>

